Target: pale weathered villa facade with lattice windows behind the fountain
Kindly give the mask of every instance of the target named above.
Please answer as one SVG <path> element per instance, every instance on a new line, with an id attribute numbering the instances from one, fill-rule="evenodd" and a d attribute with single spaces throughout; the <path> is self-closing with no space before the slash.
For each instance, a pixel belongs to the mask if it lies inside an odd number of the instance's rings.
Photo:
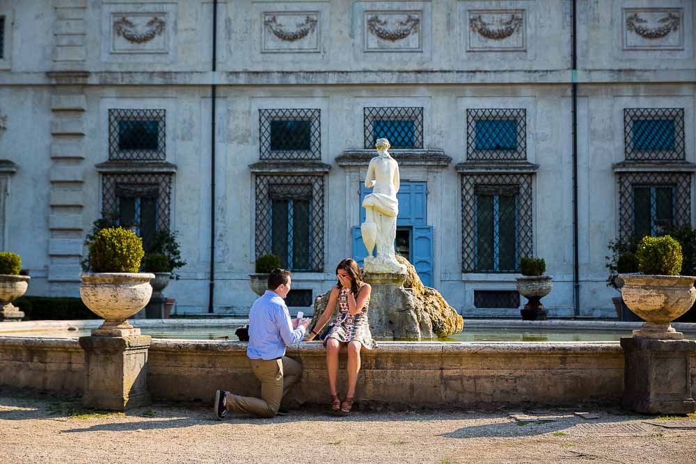
<path id="1" fill-rule="evenodd" d="M 608 242 L 693 221 L 695 17 L 690 0 L 0 0 L 0 243 L 29 294 L 77 296 L 84 236 L 114 213 L 146 247 L 179 232 L 179 313 L 246 314 L 265 253 L 308 306 L 365 255 L 386 136 L 397 250 L 461 314 L 519 316 L 536 255 L 552 317 L 612 317 Z"/>

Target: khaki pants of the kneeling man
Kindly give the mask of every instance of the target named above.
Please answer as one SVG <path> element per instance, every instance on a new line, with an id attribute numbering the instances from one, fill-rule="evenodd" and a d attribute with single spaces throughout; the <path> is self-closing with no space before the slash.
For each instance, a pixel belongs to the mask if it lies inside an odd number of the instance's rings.
<path id="1" fill-rule="evenodd" d="M 302 365 L 283 356 L 280 359 L 251 359 L 251 370 L 261 382 L 261 399 L 228 393 L 227 410 L 258 417 L 274 417 L 290 387 L 302 376 Z"/>

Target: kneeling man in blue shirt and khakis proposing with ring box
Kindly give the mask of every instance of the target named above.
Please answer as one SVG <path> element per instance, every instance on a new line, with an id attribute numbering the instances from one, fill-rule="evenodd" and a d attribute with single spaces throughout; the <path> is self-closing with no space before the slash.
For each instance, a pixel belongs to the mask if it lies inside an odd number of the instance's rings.
<path id="1" fill-rule="evenodd" d="M 285 356 L 285 345 L 304 337 L 309 321 L 292 321 L 283 299 L 290 291 L 290 271 L 274 269 L 268 277 L 268 290 L 254 302 L 249 312 L 249 345 L 246 355 L 251 369 L 261 382 L 261 399 L 240 397 L 218 390 L 213 406 L 222 419 L 228 410 L 258 417 L 286 414 L 280 407 L 290 387 L 302 376 L 302 365 Z"/>

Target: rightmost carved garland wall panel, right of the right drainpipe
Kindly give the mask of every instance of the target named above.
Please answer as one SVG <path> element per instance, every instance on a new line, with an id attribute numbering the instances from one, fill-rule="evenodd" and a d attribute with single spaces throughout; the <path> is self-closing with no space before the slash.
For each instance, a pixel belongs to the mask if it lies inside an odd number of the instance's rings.
<path id="1" fill-rule="evenodd" d="M 624 50 L 684 48 L 682 8 L 624 8 Z"/>

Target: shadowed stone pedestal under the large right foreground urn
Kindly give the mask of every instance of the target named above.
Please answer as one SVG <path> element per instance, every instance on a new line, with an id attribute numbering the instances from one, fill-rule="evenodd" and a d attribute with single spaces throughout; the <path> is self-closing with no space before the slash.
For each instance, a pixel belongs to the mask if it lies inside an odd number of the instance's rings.
<path id="1" fill-rule="evenodd" d="M 691 391 L 693 340 L 622 337 L 624 396 L 622 406 L 637 413 L 696 412 Z"/>

